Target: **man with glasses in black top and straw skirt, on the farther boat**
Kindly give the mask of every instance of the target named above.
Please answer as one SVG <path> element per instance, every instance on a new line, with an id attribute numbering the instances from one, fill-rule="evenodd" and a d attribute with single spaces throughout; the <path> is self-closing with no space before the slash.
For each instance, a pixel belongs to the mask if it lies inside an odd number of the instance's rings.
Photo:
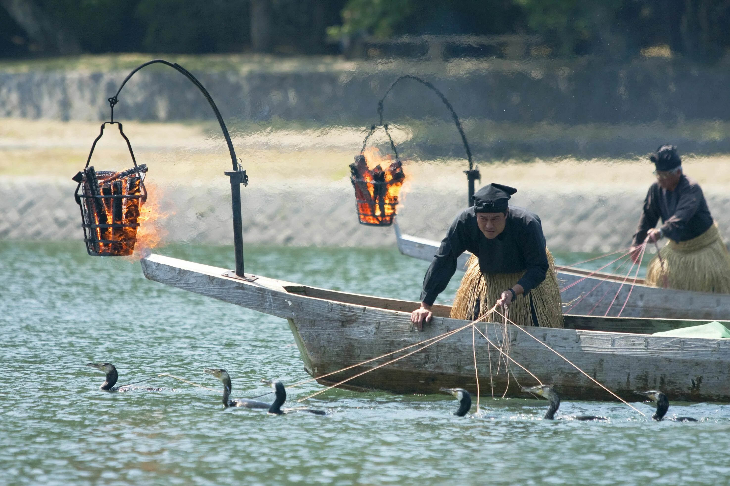
<path id="1" fill-rule="evenodd" d="M 661 238 L 661 259 L 649 264 L 646 282 L 672 289 L 730 293 L 730 256 L 712 221 L 702 189 L 684 175 L 677 147 L 660 146 L 650 160 L 656 182 L 649 187 L 631 258 L 639 260 L 644 243 Z M 656 228 L 661 218 L 661 227 Z"/>

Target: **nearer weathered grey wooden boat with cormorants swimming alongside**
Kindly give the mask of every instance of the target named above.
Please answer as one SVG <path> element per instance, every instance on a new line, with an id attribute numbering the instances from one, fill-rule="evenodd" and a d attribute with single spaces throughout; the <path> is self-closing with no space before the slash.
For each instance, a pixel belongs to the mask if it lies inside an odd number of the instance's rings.
<path id="1" fill-rule="evenodd" d="M 319 379 L 323 385 L 373 369 L 411 350 L 367 364 L 363 361 L 469 324 L 448 318 L 450 307 L 434 305 L 433 320 L 419 332 L 410 322 L 410 312 L 418 307 L 418 302 L 318 289 L 263 276 L 253 282 L 244 281 L 223 268 L 167 256 L 146 256 L 142 269 L 151 280 L 286 319 L 304 368 L 314 377 L 359 364 Z M 696 324 L 704 323 L 566 315 L 566 329 L 493 323 L 476 326 L 492 342 L 505 337 L 509 355 L 543 383 L 556 385 L 565 399 L 612 396 L 541 343 L 627 400 L 635 400 L 635 390 L 659 388 L 672 400 L 730 401 L 730 340 L 650 335 Z M 492 390 L 499 396 L 505 390 L 506 396 L 523 396 L 518 383 L 536 384 L 533 377 L 515 365 L 510 366 L 508 377 L 504 363 L 499 365 L 496 349 L 489 349 L 484 338 L 475 335 L 483 396 L 491 395 Z M 437 393 L 442 386 L 463 387 L 475 393 L 474 359 L 472 332 L 467 328 L 346 385 L 394 393 Z"/>

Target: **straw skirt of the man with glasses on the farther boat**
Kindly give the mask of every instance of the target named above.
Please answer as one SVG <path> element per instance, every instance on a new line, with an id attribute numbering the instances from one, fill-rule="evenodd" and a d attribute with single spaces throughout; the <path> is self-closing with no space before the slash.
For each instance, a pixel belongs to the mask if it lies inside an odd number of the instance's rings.
<path id="1" fill-rule="evenodd" d="M 730 254 L 713 224 L 691 240 L 669 240 L 649 263 L 646 283 L 669 289 L 730 294 Z"/>

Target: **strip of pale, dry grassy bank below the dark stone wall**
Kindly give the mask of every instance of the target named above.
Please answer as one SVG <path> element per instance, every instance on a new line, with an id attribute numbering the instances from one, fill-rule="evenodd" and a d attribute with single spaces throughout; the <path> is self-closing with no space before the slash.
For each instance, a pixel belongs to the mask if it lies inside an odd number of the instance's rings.
<path id="1" fill-rule="evenodd" d="M 230 159 L 222 138 L 213 135 L 215 125 L 127 122 L 124 128 L 138 162 L 150 165 L 150 177 L 155 180 L 226 184 L 222 173 Z M 98 122 L 0 119 L 0 176 L 70 178 L 85 164 L 91 142 L 98 134 Z M 396 136 L 405 138 L 409 134 L 401 130 Z M 252 124 L 234 131 L 234 146 L 252 184 L 349 184 L 347 166 L 359 152 L 362 137 L 361 128 L 295 130 Z M 434 190 L 466 185 L 461 173 L 466 162 L 461 157 L 429 160 L 404 152 L 403 160 L 411 184 Z M 652 166 L 639 156 L 477 160 L 483 184 L 500 181 L 516 187 L 552 187 L 556 191 L 620 192 L 645 188 L 653 181 Z M 684 166 L 707 189 L 723 190 L 730 184 L 729 162 L 729 154 L 690 154 L 685 156 Z M 92 164 L 99 169 L 131 165 L 126 145 L 113 131 L 101 138 Z"/>

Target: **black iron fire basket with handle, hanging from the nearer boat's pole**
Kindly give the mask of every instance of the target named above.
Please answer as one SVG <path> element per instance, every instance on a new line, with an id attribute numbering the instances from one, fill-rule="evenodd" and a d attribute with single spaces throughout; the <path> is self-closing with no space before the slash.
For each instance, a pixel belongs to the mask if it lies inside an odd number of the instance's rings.
<path id="1" fill-rule="evenodd" d="M 118 125 L 127 142 L 134 167 L 126 171 L 96 171 L 91 162 L 96 142 L 106 125 Z M 124 256 L 134 252 L 139 227 L 139 208 L 147 200 L 145 189 L 147 165 L 137 165 L 129 139 L 119 122 L 104 122 L 91 145 L 86 167 L 74 176 L 79 185 L 74 197 L 81 208 L 86 251 L 93 256 Z"/>

